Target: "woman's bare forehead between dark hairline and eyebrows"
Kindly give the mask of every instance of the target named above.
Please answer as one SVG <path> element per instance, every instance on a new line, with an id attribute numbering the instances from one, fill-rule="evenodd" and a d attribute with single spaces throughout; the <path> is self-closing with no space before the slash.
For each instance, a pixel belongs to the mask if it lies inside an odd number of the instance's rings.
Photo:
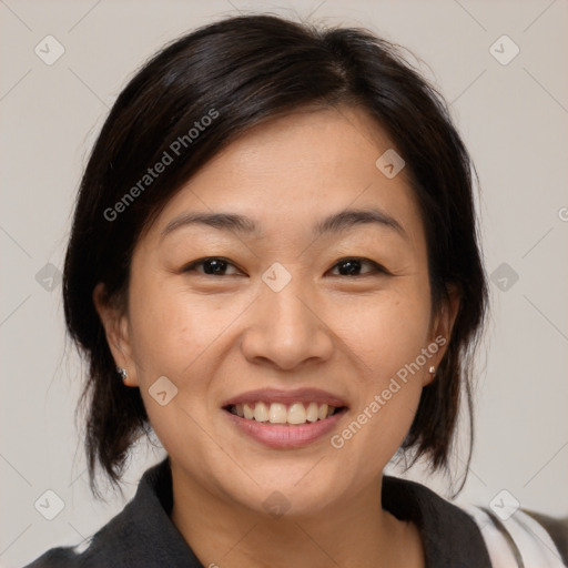
<path id="1" fill-rule="evenodd" d="M 378 207 L 414 239 L 420 219 L 405 169 L 389 179 L 376 162 L 393 144 L 351 108 L 297 111 L 247 131 L 207 162 L 156 220 L 158 235 L 186 212 L 231 212 L 257 221 L 263 237 L 312 227 L 347 209 Z"/>

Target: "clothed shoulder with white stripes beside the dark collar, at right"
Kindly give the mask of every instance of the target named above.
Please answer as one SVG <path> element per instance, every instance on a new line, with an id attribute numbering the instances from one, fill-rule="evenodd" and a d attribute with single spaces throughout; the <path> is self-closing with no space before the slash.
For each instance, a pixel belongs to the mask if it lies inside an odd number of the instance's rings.
<path id="1" fill-rule="evenodd" d="M 420 484 L 388 476 L 382 498 L 385 509 L 418 525 L 428 566 L 568 566 L 568 518 L 517 509 L 501 519 L 490 509 L 458 505 Z"/>

